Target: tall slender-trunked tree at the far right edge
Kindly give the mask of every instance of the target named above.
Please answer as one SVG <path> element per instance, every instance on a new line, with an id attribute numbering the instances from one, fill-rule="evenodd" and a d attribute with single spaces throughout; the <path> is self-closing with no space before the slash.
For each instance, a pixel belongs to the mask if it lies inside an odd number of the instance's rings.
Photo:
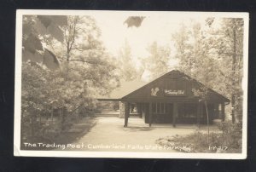
<path id="1" fill-rule="evenodd" d="M 231 116 L 235 123 L 236 117 L 241 121 L 241 77 L 243 59 L 243 20 L 223 19 L 222 29 L 218 39 L 218 54 L 224 64 L 229 66 L 229 71 L 222 68 L 221 73 L 226 80 L 229 80 L 231 92 Z M 230 63 L 230 61 L 232 61 Z"/>

